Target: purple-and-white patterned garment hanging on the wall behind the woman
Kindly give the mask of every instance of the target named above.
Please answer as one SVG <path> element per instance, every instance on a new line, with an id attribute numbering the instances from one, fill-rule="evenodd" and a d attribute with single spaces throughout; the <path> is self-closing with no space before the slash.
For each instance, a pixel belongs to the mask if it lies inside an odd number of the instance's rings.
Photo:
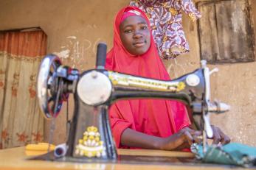
<path id="1" fill-rule="evenodd" d="M 177 57 L 190 51 L 182 28 L 181 11 L 196 21 L 201 14 L 193 0 L 132 0 L 131 6 L 143 10 L 151 21 L 153 38 L 162 59 Z"/>

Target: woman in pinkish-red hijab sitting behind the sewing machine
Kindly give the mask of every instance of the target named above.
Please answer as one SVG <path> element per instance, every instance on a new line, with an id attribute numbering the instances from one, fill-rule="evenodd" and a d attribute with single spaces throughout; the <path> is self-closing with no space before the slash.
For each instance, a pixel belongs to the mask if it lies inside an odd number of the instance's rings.
<path id="1" fill-rule="evenodd" d="M 159 58 L 147 16 L 137 7 L 125 7 L 114 21 L 114 46 L 105 68 L 153 79 L 170 79 Z M 201 132 L 190 129 L 187 111 L 180 102 L 164 99 L 119 101 L 110 110 L 112 132 L 119 148 L 184 149 L 199 142 Z M 215 143 L 229 142 L 213 128 Z"/>

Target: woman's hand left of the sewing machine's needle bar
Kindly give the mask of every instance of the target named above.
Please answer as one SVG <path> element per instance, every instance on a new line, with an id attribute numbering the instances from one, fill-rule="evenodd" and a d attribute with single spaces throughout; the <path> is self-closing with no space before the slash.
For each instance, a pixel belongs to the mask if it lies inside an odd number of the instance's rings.
<path id="1" fill-rule="evenodd" d="M 193 143 L 201 143 L 201 131 L 192 130 L 189 127 L 184 127 L 179 132 L 163 138 L 160 149 L 164 150 L 180 150 L 190 148 Z"/>

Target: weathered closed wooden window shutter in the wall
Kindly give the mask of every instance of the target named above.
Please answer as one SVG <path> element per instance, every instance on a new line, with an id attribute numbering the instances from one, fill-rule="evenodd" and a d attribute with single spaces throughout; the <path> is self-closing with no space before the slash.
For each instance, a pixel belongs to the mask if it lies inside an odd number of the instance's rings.
<path id="1" fill-rule="evenodd" d="M 208 63 L 255 60 L 250 0 L 199 1 L 198 36 L 201 59 Z"/>

